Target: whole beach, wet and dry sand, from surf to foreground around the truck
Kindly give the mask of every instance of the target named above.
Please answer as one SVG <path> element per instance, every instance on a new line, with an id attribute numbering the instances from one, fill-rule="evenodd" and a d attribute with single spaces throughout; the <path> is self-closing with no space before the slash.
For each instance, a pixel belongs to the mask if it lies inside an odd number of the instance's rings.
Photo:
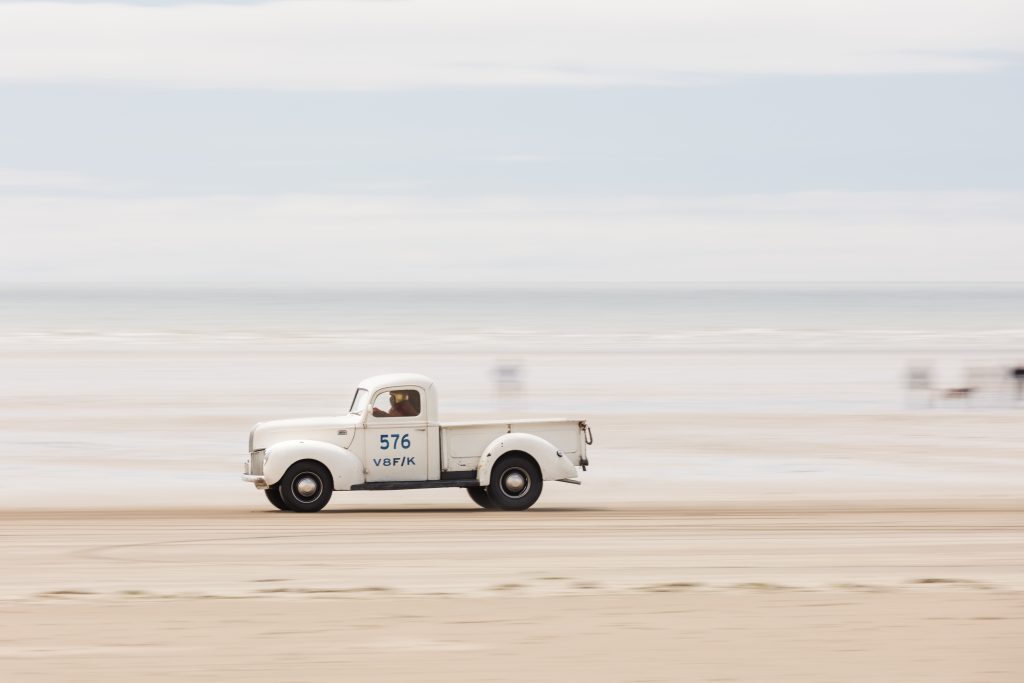
<path id="1" fill-rule="evenodd" d="M 503 395 L 495 353 L 342 341 L 0 345 L 4 677 L 1024 680 L 1014 404 L 908 408 L 896 352 L 552 350 Z M 255 422 L 396 367 L 434 377 L 443 420 L 587 418 L 583 485 L 525 513 L 442 489 L 298 515 L 240 480 Z"/>

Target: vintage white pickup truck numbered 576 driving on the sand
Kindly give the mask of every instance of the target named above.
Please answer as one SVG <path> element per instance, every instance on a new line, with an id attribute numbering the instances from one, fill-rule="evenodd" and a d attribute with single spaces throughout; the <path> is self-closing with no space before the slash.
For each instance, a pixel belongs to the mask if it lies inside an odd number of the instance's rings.
<path id="1" fill-rule="evenodd" d="M 423 375 L 380 375 L 347 415 L 261 422 L 249 433 L 245 481 L 280 510 L 316 512 L 335 490 L 459 486 L 482 508 L 525 510 L 544 481 L 580 483 L 585 420 L 440 423 Z"/>

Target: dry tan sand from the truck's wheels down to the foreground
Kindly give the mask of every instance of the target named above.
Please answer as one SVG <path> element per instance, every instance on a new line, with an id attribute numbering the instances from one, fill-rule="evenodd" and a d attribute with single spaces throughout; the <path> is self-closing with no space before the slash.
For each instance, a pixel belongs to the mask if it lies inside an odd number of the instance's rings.
<path id="1" fill-rule="evenodd" d="M 16 680 L 1020 681 L 1024 506 L 0 511 Z"/>

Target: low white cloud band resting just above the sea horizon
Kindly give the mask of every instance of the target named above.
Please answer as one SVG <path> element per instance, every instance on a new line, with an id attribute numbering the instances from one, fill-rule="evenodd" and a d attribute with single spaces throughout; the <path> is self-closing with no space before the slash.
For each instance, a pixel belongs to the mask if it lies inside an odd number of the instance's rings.
<path id="1" fill-rule="evenodd" d="M 1017 281 L 1014 193 L 2 197 L 5 284 Z"/>

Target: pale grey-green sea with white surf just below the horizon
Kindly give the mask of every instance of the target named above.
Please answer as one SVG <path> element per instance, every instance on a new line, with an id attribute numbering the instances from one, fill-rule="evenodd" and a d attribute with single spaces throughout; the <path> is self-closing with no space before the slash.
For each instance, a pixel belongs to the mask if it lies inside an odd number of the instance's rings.
<path id="1" fill-rule="evenodd" d="M 0 290 L 8 346 L 331 342 L 347 348 L 1015 353 L 1024 286 L 547 285 Z"/>

